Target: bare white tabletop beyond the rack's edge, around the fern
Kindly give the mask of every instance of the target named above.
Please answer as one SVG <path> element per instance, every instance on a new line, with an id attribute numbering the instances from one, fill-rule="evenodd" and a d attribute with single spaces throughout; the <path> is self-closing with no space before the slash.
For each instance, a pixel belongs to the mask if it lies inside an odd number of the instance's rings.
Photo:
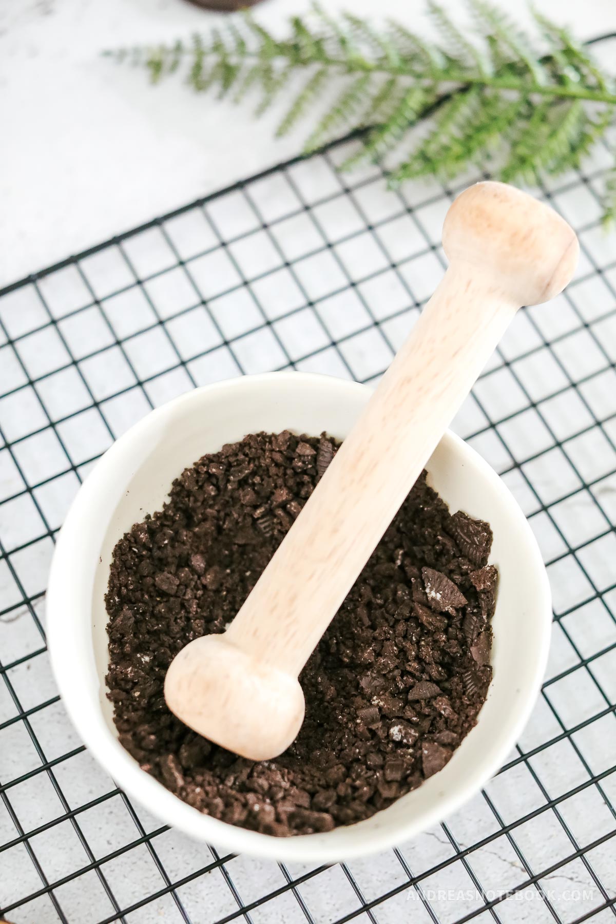
<path id="1" fill-rule="evenodd" d="M 275 24 L 306 6 L 269 0 L 259 15 Z M 378 8 L 417 24 L 422 6 Z M 537 6 L 556 18 L 566 6 L 583 38 L 616 29 L 612 0 Z M 174 81 L 152 90 L 142 73 L 98 56 L 216 18 L 184 0 L 0 0 L 0 286 L 298 152 L 301 132 L 272 140 L 276 109 L 255 123 Z"/>

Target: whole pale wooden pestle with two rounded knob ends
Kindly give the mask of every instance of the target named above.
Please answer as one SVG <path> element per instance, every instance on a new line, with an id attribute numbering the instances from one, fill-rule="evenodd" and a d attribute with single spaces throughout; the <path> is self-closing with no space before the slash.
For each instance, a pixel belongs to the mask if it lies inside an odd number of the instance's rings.
<path id="1" fill-rule="evenodd" d="M 233 623 L 176 655 L 175 715 L 252 760 L 304 718 L 297 676 L 462 405 L 515 311 L 558 295 L 572 228 L 501 183 L 477 183 L 443 227 L 449 269 Z"/>

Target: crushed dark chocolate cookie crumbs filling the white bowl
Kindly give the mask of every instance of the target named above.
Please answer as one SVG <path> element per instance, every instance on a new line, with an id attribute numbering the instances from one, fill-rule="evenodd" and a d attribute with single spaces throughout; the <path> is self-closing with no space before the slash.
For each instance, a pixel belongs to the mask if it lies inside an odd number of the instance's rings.
<path id="1" fill-rule="evenodd" d="M 424 472 L 300 676 L 291 748 L 238 758 L 166 708 L 169 663 L 231 622 L 337 446 L 257 433 L 203 456 L 117 543 L 105 598 L 123 746 L 189 805 L 263 833 L 330 831 L 417 788 L 477 722 L 491 677 L 491 531 L 450 515 Z"/>

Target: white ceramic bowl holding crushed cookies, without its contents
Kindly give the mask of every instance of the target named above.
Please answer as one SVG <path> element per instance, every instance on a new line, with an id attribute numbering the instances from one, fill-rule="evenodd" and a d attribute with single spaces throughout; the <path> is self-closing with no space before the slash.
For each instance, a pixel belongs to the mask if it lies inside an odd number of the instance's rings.
<path id="1" fill-rule="evenodd" d="M 161 508 L 183 468 L 248 432 L 285 428 L 343 439 L 369 397 L 354 383 L 274 373 L 191 392 L 153 412 L 103 457 L 79 492 L 58 541 L 49 590 L 54 671 L 80 735 L 118 784 L 201 840 L 234 850 L 321 862 L 376 851 L 457 808 L 500 766 L 537 695 L 550 637 L 550 594 L 525 517 L 491 468 L 451 433 L 429 462 L 429 483 L 452 511 L 488 520 L 500 586 L 493 620 L 494 676 L 477 727 L 415 792 L 352 828 L 291 839 L 233 828 L 199 814 L 158 784 L 117 742 L 105 698 L 103 596 L 115 542 Z"/>

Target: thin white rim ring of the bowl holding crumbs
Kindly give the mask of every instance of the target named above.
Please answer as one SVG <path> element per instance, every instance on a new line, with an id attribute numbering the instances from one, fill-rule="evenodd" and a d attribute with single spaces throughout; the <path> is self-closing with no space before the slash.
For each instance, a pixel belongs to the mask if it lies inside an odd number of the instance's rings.
<path id="1" fill-rule="evenodd" d="M 252 857 L 262 857 L 292 862 L 319 862 L 333 863 L 355 857 L 363 857 L 391 848 L 396 843 L 408 840 L 410 837 L 424 832 L 433 824 L 442 821 L 455 810 L 465 804 L 477 791 L 487 783 L 500 768 L 503 760 L 510 753 L 515 741 L 520 736 L 525 723 L 528 721 L 535 701 L 548 660 L 551 635 L 551 594 L 548 575 L 543 564 L 537 540 L 530 528 L 524 513 L 514 500 L 512 493 L 501 480 L 501 477 L 489 466 L 489 463 L 479 456 L 459 436 L 451 431 L 443 434 L 441 442 L 447 444 L 453 453 L 461 458 L 463 465 L 475 468 L 478 474 L 489 481 L 499 494 L 501 507 L 507 517 L 513 518 L 525 536 L 525 545 L 532 560 L 534 580 L 536 583 L 536 609 L 538 614 L 545 614 L 537 628 L 537 638 L 533 646 L 535 656 L 535 669 L 533 681 L 528 683 L 518 702 L 515 716 L 509 719 L 509 733 L 501 741 L 498 748 L 494 748 L 489 759 L 477 765 L 473 779 L 450 789 L 431 808 L 427 808 L 420 818 L 400 822 L 399 829 L 393 833 L 389 827 L 377 828 L 369 832 L 368 836 L 352 836 L 356 825 L 349 825 L 334 829 L 329 833 L 301 834 L 294 837 L 275 837 L 248 829 L 237 827 L 225 821 L 213 819 L 204 815 L 196 808 L 183 802 L 178 796 L 167 790 L 163 784 L 142 771 L 139 764 L 120 745 L 104 721 L 103 713 L 92 716 L 92 709 L 84 709 L 84 698 L 80 696 L 79 668 L 76 668 L 75 659 L 79 659 L 79 651 L 83 651 L 79 633 L 71 635 L 66 633 L 66 586 L 71 584 L 71 574 L 76 567 L 75 549 L 79 548 L 79 535 L 82 529 L 91 529 L 88 522 L 88 511 L 94 498 L 100 496 L 104 488 L 104 481 L 109 477 L 117 463 L 121 462 L 130 451 L 130 446 L 148 432 L 152 423 L 165 417 L 171 418 L 176 411 L 193 401 L 199 401 L 199 395 L 207 393 L 210 397 L 233 391 L 242 392 L 246 389 L 259 388 L 270 385 L 275 378 L 278 384 L 284 386 L 284 379 L 293 378 L 294 385 L 304 386 L 307 389 L 325 387 L 335 389 L 340 394 L 344 391 L 355 393 L 361 391 L 365 399 L 369 388 L 366 385 L 336 379 L 331 376 L 309 372 L 280 371 L 266 372 L 259 375 L 246 375 L 219 383 L 203 385 L 197 389 L 179 395 L 161 407 L 155 408 L 144 418 L 123 433 L 112 446 L 101 456 L 92 469 L 87 480 L 79 488 L 66 519 L 57 538 L 54 557 L 50 570 L 47 590 L 47 642 L 50 660 L 55 680 L 62 697 L 68 716 L 76 728 L 83 743 L 91 751 L 94 758 L 108 772 L 115 783 L 125 790 L 131 798 L 135 798 L 144 808 L 167 824 L 175 827 L 182 833 L 201 842 L 213 842 L 234 853 L 246 853 Z M 80 611 L 81 612 L 81 611 Z M 79 616 L 77 617 L 79 618 Z M 82 618 L 82 616 L 81 616 Z M 90 614 L 86 626 L 91 626 Z M 81 633 L 83 637 L 83 633 Z M 86 632 L 86 638 L 89 633 Z M 100 720 L 100 721 L 99 721 Z M 339 838 L 341 831 L 351 836 L 344 840 Z M 332 835 L 338 837 L 332 839 Z"/>

